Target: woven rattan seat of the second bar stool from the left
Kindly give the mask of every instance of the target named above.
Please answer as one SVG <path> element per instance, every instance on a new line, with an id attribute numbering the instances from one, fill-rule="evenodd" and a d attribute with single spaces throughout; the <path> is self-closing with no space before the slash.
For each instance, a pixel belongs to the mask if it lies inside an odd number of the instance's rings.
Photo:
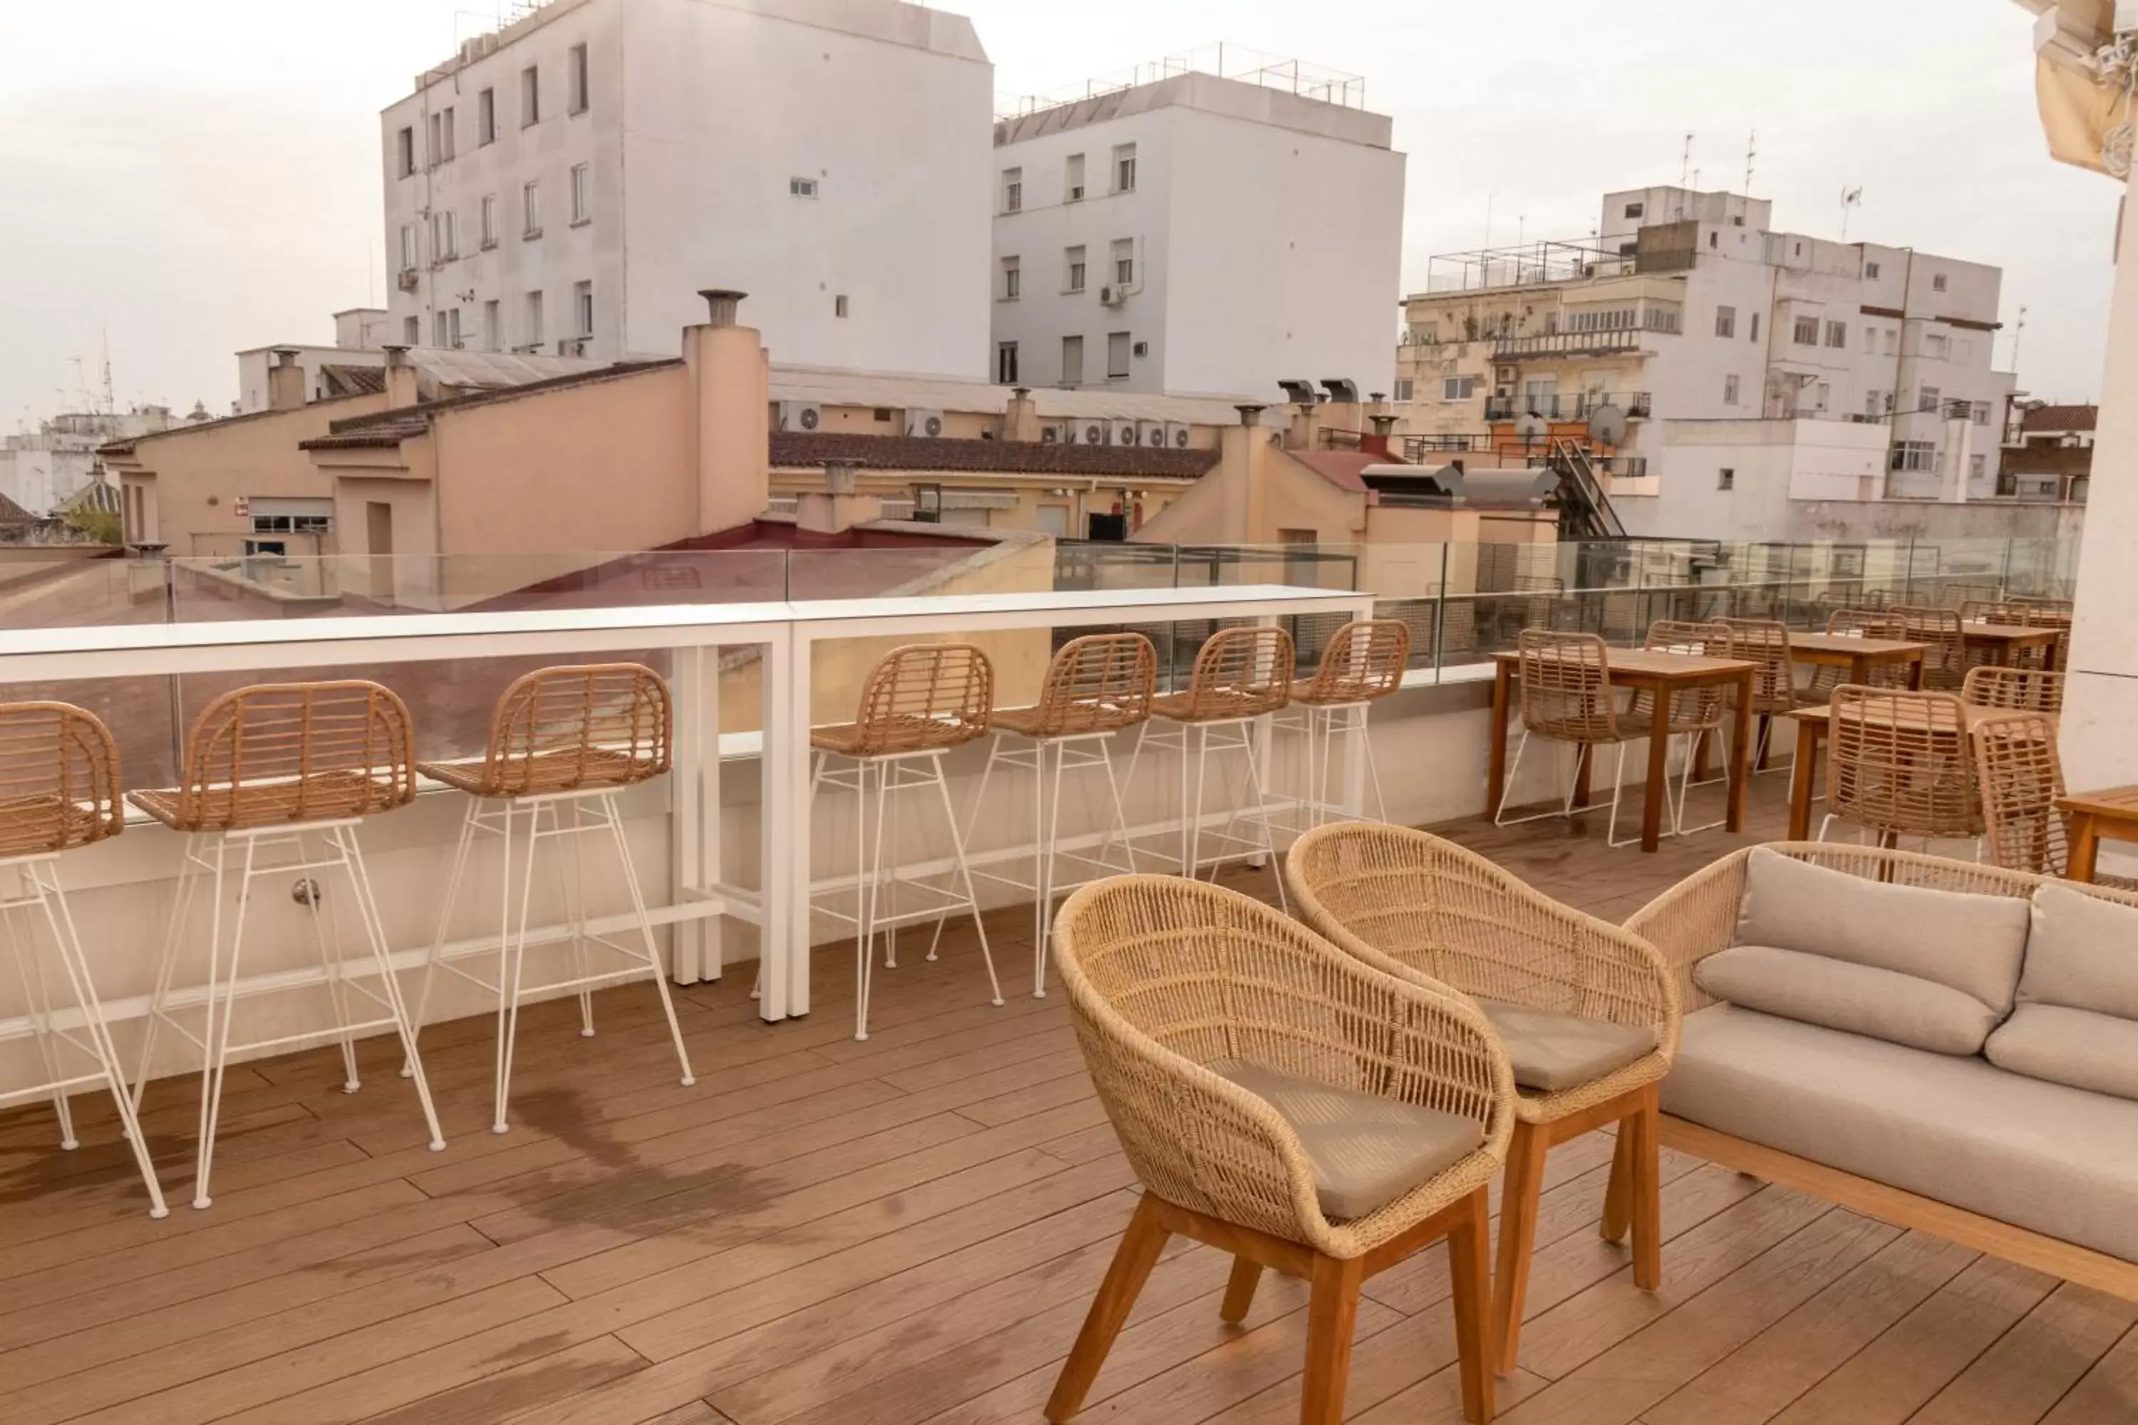
<path id="1" fill-rule="evenodd" d="M 186 733 L 184 831 L 374 816 L 415 797 L 408 705 L 344 679 L 224 692 Z"/>

